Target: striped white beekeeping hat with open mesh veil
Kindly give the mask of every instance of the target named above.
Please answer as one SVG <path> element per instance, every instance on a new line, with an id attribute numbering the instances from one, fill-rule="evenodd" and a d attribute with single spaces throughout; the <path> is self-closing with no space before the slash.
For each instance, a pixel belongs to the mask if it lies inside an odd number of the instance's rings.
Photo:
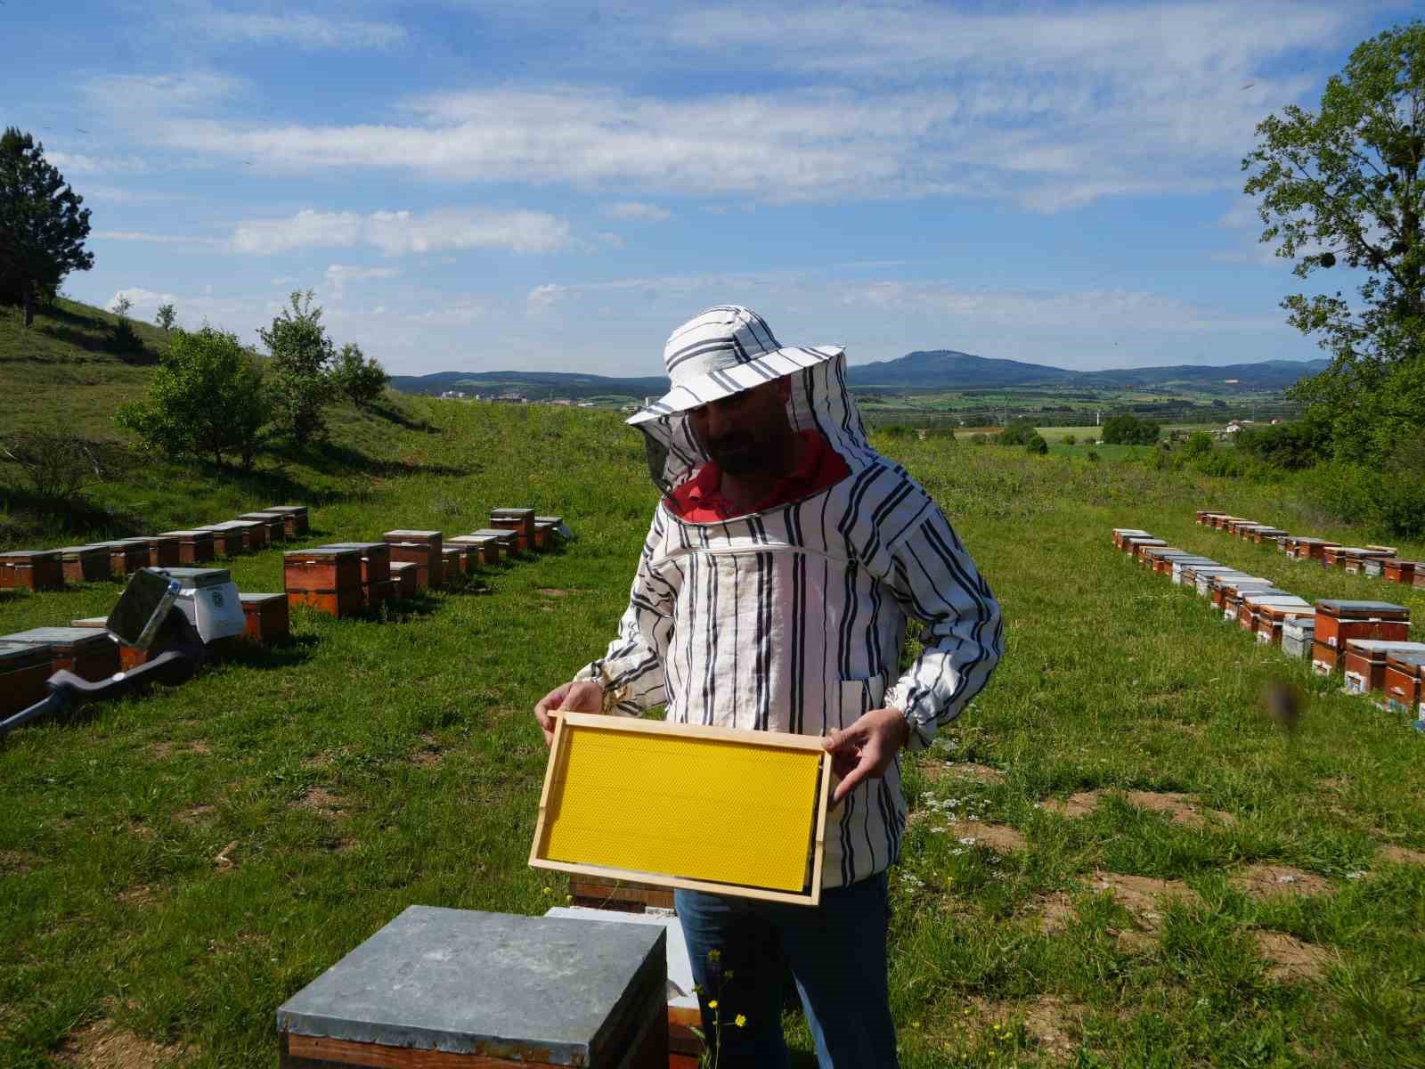
<path id="1" fill-rule="evenodd" d="M 846 391 L 839 345 L 782 345 L 752 309 L 715 305 L 673 332 L 663 362 L 673 388 L 628 422 L 643 430 L 648 469 L 664 493 L 708 459 L 688 419 L 691 409 L 782 376 L 791 378 L 787 415 L 797 430 L 819 430 L 852 472 L 875 458 Z"/>

